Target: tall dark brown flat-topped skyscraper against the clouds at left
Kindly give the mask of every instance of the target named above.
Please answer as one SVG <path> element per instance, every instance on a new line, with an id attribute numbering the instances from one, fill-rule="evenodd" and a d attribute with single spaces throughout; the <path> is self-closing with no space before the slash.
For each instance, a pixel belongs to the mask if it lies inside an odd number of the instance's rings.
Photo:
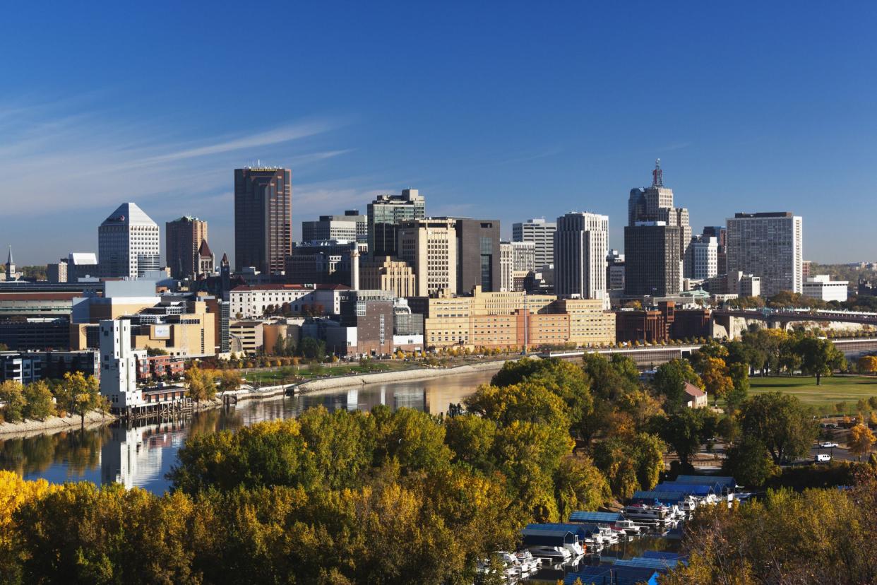
<path id="1" fill-rule="evenodd" d="M 282 274 L 292 247 L 292 171 L 234 169 L 234 265 Z"/>

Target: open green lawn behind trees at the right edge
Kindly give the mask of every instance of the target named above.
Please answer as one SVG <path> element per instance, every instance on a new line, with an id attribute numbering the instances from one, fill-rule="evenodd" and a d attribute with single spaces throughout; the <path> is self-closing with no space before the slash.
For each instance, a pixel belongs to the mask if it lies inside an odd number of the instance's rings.
<path id="1" fill-rule="evenodd" d="M 835 403 L 849 403 L 853 412 L 859 398 L 877 396 L 877 377 L 844 375 L 823 377 L 816 386 L 816 378 L 811 376 L 781 376 L 778 378 L 752 377 L 749 379 L 750 394 L 780 391 L 794 394 L 803 403 L 816 407 L 833 406 Z"/>

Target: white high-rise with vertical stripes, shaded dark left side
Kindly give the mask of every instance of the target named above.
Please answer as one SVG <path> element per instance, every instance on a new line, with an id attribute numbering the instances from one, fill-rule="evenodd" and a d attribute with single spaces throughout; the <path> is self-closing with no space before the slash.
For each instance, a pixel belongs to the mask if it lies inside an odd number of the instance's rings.
<path id="1" fill-rule="evenodd" d="M 606 294 L 609 217 L 570 212 L 557 218 L 554 232 L 554 293 L 562 297 L 600 299 Z"/>

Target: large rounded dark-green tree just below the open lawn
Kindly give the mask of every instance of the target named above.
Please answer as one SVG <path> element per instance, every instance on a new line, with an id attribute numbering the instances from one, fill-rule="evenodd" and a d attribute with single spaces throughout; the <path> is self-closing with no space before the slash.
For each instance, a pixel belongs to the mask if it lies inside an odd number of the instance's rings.
<path id="1" fill-rule="evenodd" d="M 744 436 L 761 440 L 777 465 L 807 454 L 818 433 L 813 412 L 797 396 L 780 392 L 752 396 L 738 419 Z"/>

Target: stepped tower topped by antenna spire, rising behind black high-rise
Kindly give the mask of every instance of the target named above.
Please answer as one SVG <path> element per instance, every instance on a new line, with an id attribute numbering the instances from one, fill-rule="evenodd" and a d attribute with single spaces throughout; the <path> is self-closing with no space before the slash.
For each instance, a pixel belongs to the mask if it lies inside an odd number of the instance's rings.
<path id="1" fill-rule="evenodd" d="M 684 274 L 690 274 L 688 246 L 691 245 L 691 225 L 688 223 L 688 210 L 674 207 L 673 189 L 664 186 L 664 171 L 660 168 L 660 159 L 655 161 L 652 170 L 652 186 L 631 189 L 627 202 L 627 225 L 637 222 L 663 222 L 667 226 L 678 226 L 680 241 L 679 257 L 685 263 Z M 631 253 L 624 250 L 630 260 Z"/>

